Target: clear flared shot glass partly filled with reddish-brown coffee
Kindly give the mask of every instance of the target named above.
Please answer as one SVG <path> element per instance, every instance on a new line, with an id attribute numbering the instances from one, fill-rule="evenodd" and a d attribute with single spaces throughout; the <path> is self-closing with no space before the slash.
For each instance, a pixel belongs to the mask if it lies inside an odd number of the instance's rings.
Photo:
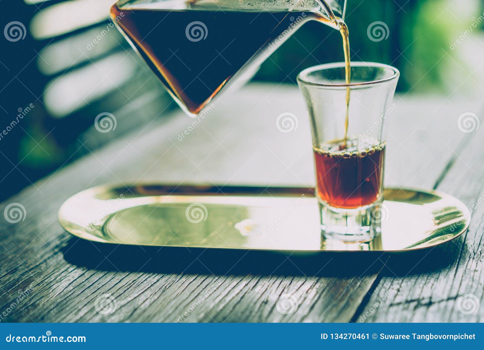
<path id="1" fill-rule="evenodd" d="M 346 84 L 341 62 L 297 78 L 311 120 L 324 238 L 361 243 L 381 232 L 387 117 L 398 76 L 389 65 L 351 62 Z"/>

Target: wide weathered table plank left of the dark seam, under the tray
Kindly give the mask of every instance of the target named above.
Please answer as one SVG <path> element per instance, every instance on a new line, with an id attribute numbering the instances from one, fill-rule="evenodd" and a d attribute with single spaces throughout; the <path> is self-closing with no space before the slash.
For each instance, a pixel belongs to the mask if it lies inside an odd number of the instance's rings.
<path id="1" fill-rule="evenodd" d="M 0 312 L 9 310 L 2 320 L 257 322 L 354 318 L 368 291 L 375 288 L 375 281 L 378 284 L 386 256 L 354 256 L 349 260 L 335 254 L 286 257 L 261 252 L 106 246 L 74 238 L 57 223 L 57 211 L 65 199 L 107 182 L 312 185 L 310 134 L 302 98 L 295 87 L 275 87 L 255 85 L 226 97 L 225 104 L 219 103 L 194 127 L 190 127 L 193 119 L 181 116 L 152 122 L 141 133 L 136 131 L 90 153 L 4 202 L 1 212 L 9 203 L 19 202 L 27 215 L 16 224 L 0 221 L 4 257 L 0 261 Z M 431 101 L 407 96 L 396 103 L 389 130 L 386 181 L 405 183 L 403 179 L 417 174 L 409 185 L 432 186 L 464 135 L 449 138 L 449 147 L 429 142 L 434 132 L 449 135 L 445 125 L 435 123 L 449 106 L 428 111 L 425 120 L 428 125 L 434 122 L 435 128 L 426 129 L 414 111 Z M 298 128 L 290 133 L 277 130 L 275 120 L 283 112 L 298 118 Z M 115 298 L 116 310 L 103 314 L 96 311 L 95 304 L 106 293 Z M 288 298 L 286 294 L 295 298 L 295 312 L 285 314 L 277 309 L 281 298 Z"/>

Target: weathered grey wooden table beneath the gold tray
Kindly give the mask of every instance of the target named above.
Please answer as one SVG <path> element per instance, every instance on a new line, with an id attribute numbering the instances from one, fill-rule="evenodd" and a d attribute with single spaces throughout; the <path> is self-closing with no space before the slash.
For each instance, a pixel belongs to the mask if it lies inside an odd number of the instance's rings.
<path id="1" fill-rule="evenodd" d="M 475 204 L 468 232 L 454 242 L 408 254 L 299 257 L 106 246 L 61 228 L 62 202 L 102 183 L 313 185 L 300 93 L 254 84 L 223 97 L 181 140 L 193 119 L 180 112 L 158 118 L 2 203 L 2 213 L 21 203 L 26 216 L 0 220 L 1 321 L 483 321 L 484 307 L 467 314 L 463 303 L 483 300 L 484 128 L 457 126 L 462 113 L 480 106 L 422 94 L 394 102 L 385 182 Z M 296 115 L 296 130 L 277 130 L 283 112 Z M 115 299 L 112 313 L 96 311 L 104 294 Z M 278 311 L 284 294 L 296 298 L 297 310 Z"/>

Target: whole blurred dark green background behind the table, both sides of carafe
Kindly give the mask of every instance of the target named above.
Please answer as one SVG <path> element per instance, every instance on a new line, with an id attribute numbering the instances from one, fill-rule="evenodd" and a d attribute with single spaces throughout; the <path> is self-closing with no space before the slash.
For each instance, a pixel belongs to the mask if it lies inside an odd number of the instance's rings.
<path id="1" fill-rule="evenodd" d="M 178 108 L 118 30 L 108 30 L 89 48 L 109 28 L 112 2 L 2 2 L 1 25 L 19 21 L 26 36 L 15 42 L 1 38 L 0 130 L 28 110 L 0 138 L 2 199 Z M 484 76 L 483 5 L 482 0 L 348 0 L 351 59 L 396 66 L 401 93 L 482 99 L 476 81 Z M 387 39 L 369 40 L 367 30 L 375 21 L 388 26 Z M 253 80 L 295 84 L 302 69 L 331 61 L 343 61 L 340 34 L 309 22 Z M 30 104 L 34 107 L 26 109 Z M 101 112 L 116 115 L 115 130 L 96 131 L 94 119 Z"/>

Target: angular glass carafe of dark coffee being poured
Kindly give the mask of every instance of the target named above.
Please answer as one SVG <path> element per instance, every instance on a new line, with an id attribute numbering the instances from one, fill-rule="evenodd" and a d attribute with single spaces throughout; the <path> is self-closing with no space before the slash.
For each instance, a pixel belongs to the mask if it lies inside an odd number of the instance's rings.
<path id="1" fill-rule="evenodd" d="M 180 107 L 199 113 L 248 81 L 308 20 L 335 29 L 346 0 L 121 0 L 111 18 Z"/>

